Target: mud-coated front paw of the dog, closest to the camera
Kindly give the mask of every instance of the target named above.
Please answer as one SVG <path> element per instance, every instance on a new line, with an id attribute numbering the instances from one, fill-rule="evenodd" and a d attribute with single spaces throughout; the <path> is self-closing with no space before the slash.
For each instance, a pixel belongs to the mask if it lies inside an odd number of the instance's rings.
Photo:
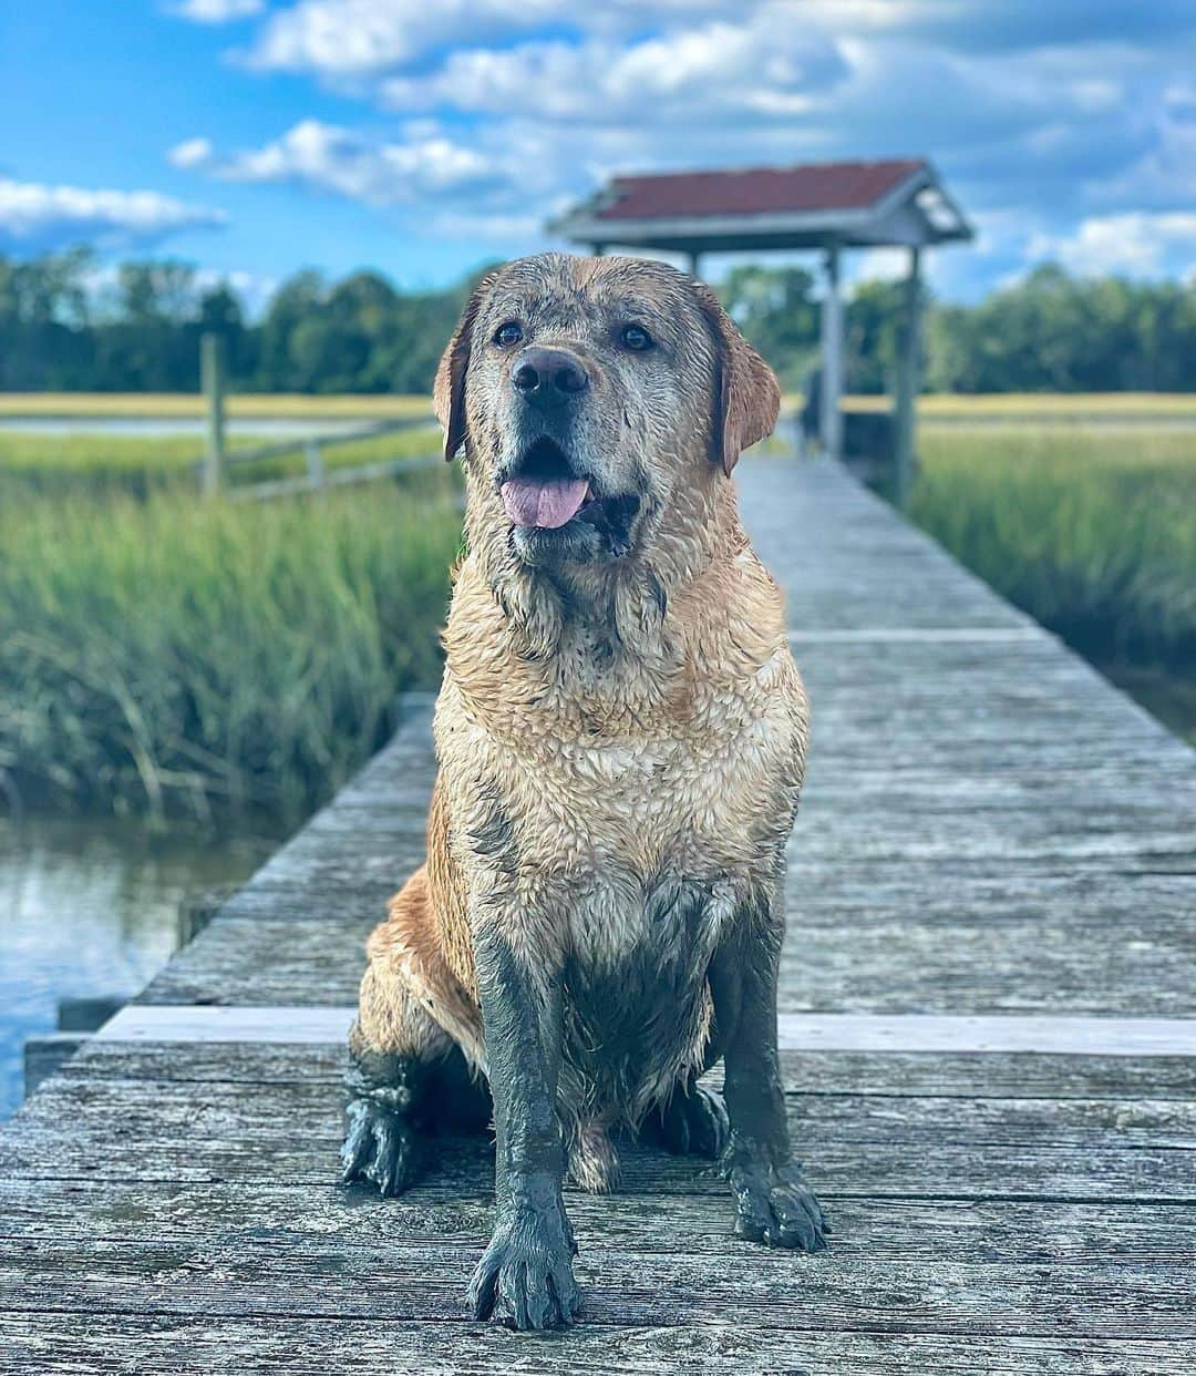
<path id="1" fill-rule="evenodd" d="M 582 1307 L 565 1207 L 511 1204 L 473 1273 L 469 1303 L 507 1328 L 568 1328 Z"/>

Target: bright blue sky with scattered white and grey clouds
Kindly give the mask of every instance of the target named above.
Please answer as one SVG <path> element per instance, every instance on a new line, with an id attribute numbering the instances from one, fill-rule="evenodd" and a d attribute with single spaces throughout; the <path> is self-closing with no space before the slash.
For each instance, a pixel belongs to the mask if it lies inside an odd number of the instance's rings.
<path id="1" fill-rule="evenodd" d="M 910 154 L 980 231 L 943 296 L 1196 271 L 1196 0 L 38 0 L 0 12 L 0 253 L 258 301 L 547 246 L 614 171 Z"/>

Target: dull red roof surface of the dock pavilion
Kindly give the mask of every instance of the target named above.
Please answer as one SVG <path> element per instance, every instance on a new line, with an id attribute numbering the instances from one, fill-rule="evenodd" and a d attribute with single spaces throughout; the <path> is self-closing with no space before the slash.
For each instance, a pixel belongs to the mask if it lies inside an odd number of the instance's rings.
<path id="1" fill-rule="evenodd" d="M 701 215 L 859 211 L 874 205 L 922 166 L 921 158 L 905 158 L 619 176 L 599 194 L 599 208 L 593 213 L 599 220 L 658 220 Z"/>

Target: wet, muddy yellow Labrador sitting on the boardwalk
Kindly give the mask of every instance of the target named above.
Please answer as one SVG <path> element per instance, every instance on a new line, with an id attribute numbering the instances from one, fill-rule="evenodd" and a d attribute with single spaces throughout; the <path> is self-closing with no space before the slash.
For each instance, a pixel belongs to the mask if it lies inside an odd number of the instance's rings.
<path id="1" fill-rule="evenodd" d="M 616 1130 L 719 1159 L 735 1230 L 825 1245 L 777 1057 L 785 842 L 807 733 L 731 469 L 777 381 L 701 282 L 544 255 L 470 297 L 436 378 L 466 544 L 428 863 L 368 943 L 345 1179 L 384 1194 L 492 1112 L 478 1317 L 569 1324 L 561 1186 Z M 697 1083 L 722 1057 L 724 1104 Z"/>

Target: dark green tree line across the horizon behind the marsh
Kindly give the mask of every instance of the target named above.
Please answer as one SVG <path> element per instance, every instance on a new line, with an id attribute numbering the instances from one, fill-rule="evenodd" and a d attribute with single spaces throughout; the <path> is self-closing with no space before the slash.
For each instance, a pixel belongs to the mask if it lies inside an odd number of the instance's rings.
<path id="1" fill-rule="evenodd" d="M 228 283 L 179 261 L 122 264 L 96 289 L 87 250 L 0 257 L 0 391 L 188 392 L 198 340 L 224 336 L 246 392 L 428 392 L 474 274 L 400 290 L 363 270 L 297 272 L 252 319 Z M 719 288 L 786 389 L 818 356 L 817 281 L 804 267 L 734 268 Z M 847 385 L 888 391 L 902 288 L 861 283 L 845 307 Z M 936 392 L 1196 389 L 1196 283 L 1072 277 L 1059 264 L 975 305 L 927 301 L 924 383 Z"/>

